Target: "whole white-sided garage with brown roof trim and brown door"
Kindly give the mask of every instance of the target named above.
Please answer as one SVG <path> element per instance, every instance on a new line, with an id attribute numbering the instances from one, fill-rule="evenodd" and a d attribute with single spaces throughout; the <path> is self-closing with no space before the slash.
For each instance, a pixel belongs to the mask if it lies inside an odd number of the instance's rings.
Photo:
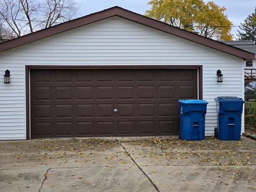
<path id="1" fill-rule="evenodd" d="M 252 59 L 120 7 L 93 13 L 0 44 L 0 139 L 178 135 L 178 99 L 209 102 L 213 135 L 214 98 L 244 97 Z"/>

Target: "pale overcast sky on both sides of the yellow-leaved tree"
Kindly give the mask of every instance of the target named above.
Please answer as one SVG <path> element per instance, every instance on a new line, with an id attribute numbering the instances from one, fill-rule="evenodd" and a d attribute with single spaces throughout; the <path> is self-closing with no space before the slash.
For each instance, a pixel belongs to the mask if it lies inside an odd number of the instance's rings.
<path id="1" fill-rule="evenodd" d="M 98 12 L 104 9 L 108 9 L 113 6 L 120 6 L 124 9 L 144 14 L 146 10 L 150 9 L 147 4 L 149 0 L 75 0 L 78 4 L 81 4 L 78 17 Z M 208 2 L 209 0 L 204 0 Z M 240 25 L 241 22 L 251 13 L 254 12 L 256 6 L 256 0 L 213 0 L 214 3 L 225 6 L 226 14 L 230 21 L 235 26 Z M 237 34 L 238 27 L 233 27 L 232 33 Z"/>

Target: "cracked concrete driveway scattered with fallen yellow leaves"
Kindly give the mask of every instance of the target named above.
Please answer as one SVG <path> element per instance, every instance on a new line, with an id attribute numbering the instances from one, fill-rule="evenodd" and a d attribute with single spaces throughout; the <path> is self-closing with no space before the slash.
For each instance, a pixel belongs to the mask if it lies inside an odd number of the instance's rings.
<path id="1" fill-rule="evenodd" d="M 256 191 L 256 142 L 0 141 L 1 191 Z"/>

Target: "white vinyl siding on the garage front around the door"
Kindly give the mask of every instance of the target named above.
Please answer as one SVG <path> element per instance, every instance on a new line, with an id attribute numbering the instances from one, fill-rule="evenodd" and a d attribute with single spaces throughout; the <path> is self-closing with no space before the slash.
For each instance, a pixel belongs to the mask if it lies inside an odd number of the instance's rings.
<path id="1" fill-rule="evenodd" d="M 0 74 L 11 71 L 0 82 L 0 139 L 26 139 L 25 65 L 203 65 L 205 135 L 217 127 L 214 98 L 243 97 L 241 58 L 112 17 L 0 53 Z"/>

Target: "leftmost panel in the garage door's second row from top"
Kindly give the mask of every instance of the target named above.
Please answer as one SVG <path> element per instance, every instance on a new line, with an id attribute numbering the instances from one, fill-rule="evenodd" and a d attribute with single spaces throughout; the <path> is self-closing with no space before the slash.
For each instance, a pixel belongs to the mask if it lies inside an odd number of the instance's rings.
<path id="1" fill-rule="evenodd" d="M 33 89 L 35 101 L 51 101 L 51 86 L 37 86 Z"/>

